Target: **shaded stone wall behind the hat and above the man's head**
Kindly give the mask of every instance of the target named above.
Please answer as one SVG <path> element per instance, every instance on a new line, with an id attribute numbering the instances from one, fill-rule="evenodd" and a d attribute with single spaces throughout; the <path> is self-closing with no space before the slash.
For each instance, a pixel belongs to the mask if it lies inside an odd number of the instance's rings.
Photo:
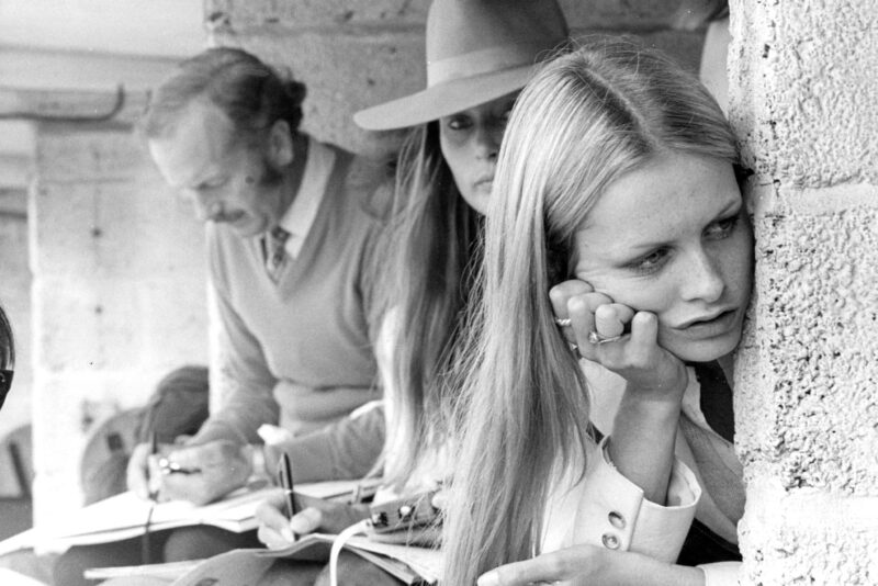
<path id="1" fill-rule="evenodd" d="M 560 0 L 575 36 L 631 33 L 698 67 L 703 31 L 671 29 L 678 0 Z M 240 46 L 308 87 L 303 127 L 370 154 L 392 149 L 398 133 L 353 124 L 362 108 L 426 83 L 424 23 L 429 0 L 206 0 L 216 45 Z"/>

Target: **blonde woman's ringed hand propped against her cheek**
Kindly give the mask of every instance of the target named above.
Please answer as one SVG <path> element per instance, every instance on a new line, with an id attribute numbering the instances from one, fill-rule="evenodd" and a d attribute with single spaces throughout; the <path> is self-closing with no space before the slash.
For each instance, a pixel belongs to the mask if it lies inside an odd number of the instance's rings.
<path id="1" fill-rule="evenodd" d="M 686 388 L 683 362 L 658 346 L 658 319 L 594 291 L 584 281 L 565 281 L 549 292 L 555 317 L 581 357 L 616 372 L 642 393 L 676 396 Z"/>

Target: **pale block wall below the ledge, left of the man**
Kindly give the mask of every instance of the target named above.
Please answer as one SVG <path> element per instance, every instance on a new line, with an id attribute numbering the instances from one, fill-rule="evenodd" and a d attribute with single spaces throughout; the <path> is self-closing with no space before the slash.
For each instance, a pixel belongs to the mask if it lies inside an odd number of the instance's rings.
<path id="1" fill-rule="evenodd" d="M 41 124 L 30 194 L 36 519 L 80 505 L 93 424 L 206 363 L 203 229 L 130 124 Z"/>

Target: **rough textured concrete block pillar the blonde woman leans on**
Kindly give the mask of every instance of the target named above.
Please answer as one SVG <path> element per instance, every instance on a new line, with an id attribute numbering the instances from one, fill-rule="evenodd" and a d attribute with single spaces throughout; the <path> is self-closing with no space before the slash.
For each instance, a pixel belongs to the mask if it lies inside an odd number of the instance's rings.
<path id="1" fill-rule="evenodd" d="M 878 9 L 731 11 L 731 117 L 756 171 L 744 583 L 878 584 Z"/>

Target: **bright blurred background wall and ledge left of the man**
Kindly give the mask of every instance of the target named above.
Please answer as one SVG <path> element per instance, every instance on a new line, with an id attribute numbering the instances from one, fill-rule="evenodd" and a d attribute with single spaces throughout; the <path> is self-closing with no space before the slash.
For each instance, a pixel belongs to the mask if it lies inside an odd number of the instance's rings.
<path id="1" fill-rule="evenodd" d="M 204 42 L 199 0 L 0 2 L 0 303 L 20 349 L 0 433 L 32 424 L 37 517 L 79 506 L 103 417 L 206 361 L 201 228 L 131 132 Z M 0 466 L 14 494 L 5 450 Z"/>

